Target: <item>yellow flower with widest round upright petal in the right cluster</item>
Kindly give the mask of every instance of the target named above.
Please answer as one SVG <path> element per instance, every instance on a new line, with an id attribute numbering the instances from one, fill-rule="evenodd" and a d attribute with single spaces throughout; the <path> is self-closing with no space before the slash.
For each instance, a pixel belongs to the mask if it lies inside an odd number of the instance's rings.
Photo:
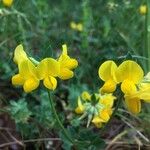
<path id="1" fill-rule="evenodd" d="M 121 90 L 128 94 L 136 91 L 136 85 L 143 79 L 142 68 L 134 61 L 127 60 L 117 69 L 117 81 L 122 82 Z"/>

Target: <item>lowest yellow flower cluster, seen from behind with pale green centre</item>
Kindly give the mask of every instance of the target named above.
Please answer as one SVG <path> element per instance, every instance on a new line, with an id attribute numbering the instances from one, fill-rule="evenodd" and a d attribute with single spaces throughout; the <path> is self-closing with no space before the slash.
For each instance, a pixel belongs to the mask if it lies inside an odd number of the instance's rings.
<path id="1" fill-rule="evenodd" d="M 116 98 L 112 94 L 94 93 L 90 95 L 84 91 L 78 97 L 78 106 L 75 109 L 77 114 L 82 114 L 80 119 L 88 116 L 87 127 L 92 122 L 100 128 L 103 123 L 108 122 L 113 112 L 113 104 Z"/>

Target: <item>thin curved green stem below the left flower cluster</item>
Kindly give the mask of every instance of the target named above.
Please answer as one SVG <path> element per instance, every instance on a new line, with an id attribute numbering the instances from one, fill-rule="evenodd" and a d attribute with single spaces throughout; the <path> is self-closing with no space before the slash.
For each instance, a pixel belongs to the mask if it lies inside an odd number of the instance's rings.
<path id="1" fill-rule="evenodd" d="M 66 129 L 64 128 L 62 122 L 60 121 L 58 115 L 57 115 L 57 112 L 56 112 L 56 109 L 55 109 L 55 106 L 54 106 L 54 102 L 53 102 L 53 99 L 51 97 L 51 93 L 50 91 L 48 90 L 48 97 L 49 97 L 49 102 L 50 102 L 50 105 L 51 105 L 51 109 L 52 109 L 52 112 L 54 114 L 54 117 L 59 125 L 59 127 L 61 128 L 61 130 L 63 131 L 63 134 L 64 136 L 73 144 L 74 141 L 72 140 L 72 138 L 69 136 L 68 132 L 66 131 Z"/>

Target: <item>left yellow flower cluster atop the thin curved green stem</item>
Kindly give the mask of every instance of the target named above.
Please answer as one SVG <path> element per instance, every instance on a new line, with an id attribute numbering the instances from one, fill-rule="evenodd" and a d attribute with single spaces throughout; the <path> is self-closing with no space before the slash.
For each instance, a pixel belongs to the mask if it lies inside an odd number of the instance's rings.
<path id="1" fill-rule="evenodd" d="M 14 52 L 14 62 L 18 65 L 19 73 L 12 77 L 12 84 L 21 85 L 25 92 L 31 92 L 42 80 L 46 88 L 55 90 L 57 77 L 62 80 L 72 78 L 72 70 L 78 66 L 78 62 L 69 57 L 66 45 L 62 47 L 63 51 L 59 58 L 44 58 L 38 62 L 27 56 L 22 45 L 18 45 Z"/>

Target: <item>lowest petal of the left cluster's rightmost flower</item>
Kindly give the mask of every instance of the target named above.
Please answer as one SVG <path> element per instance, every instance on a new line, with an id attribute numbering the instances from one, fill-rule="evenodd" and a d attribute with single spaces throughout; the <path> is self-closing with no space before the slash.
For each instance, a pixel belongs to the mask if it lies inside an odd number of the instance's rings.
<path id="1" fill-rule="evenodd" d="M 59 78 L 62 80 L 70 79 L 73 77 L 73 75 L 74 73 L 67 68 L 60 69 Z"/>

